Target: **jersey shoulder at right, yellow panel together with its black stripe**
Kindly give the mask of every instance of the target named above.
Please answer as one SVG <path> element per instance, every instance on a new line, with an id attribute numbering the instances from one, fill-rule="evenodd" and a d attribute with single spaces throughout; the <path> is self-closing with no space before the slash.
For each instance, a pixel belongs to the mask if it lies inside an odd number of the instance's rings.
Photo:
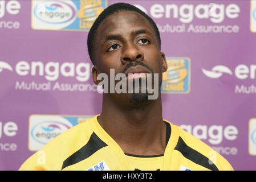
<path id="1" fill-rule="evenodd" d="M 208 144 L 181 129 L 180 126 L 172 123 L 170 126 L 173 134 L 176 135 L 173 136 L 176 138 L 176 145 L 173 149 L 186 159 L 211 170 L 233 170 L 230 163 Z"/>

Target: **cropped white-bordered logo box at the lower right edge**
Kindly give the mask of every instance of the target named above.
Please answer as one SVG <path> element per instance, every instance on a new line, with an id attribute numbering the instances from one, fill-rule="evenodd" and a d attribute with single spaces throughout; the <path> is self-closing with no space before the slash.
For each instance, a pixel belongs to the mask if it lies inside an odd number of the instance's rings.
<path id="1" fill-rule="evenodd" d="M 249 121 L 249 154 L 256 155 L 256 118 Z"/>

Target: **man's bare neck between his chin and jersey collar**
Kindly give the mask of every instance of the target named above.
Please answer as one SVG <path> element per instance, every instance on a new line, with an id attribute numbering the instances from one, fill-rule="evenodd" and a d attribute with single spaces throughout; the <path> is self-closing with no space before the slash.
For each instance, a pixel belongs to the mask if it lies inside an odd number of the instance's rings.
<path id="1" fill-rule="evenodd" d="M 103 96 L 98 121 L 126 153 L 164 153 L 166 127 L 162 122 L 161 97 L 140 107 L 120 107 L 111 97 Z"/>

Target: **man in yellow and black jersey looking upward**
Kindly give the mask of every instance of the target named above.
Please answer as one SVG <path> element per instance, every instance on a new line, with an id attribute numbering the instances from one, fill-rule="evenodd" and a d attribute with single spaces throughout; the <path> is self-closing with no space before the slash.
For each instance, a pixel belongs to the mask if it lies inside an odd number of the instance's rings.
<path id="1" fill-rule="evenodd" d="M 100 73 L 111 77 L 111 69 L 115 75 L 124 73 L 125 81 L 132 80 L 132 85 L 136 79 L 142 82 L 148 77 L 146 73 L 154 73 L 149 78 L 155 92 L 160 92 L 162 72 L 167 70 L 160 46 L 159 30 L 147 14 L 126 3 L 109 6 L 88 34 L 94 82 L 99 84 Z M 20 169 L 233 169 L 205 143 L 162 119 L 161 95 L 150 100 L 152 94 L 104 93 L 100 115 L 56 137 Z"/>

